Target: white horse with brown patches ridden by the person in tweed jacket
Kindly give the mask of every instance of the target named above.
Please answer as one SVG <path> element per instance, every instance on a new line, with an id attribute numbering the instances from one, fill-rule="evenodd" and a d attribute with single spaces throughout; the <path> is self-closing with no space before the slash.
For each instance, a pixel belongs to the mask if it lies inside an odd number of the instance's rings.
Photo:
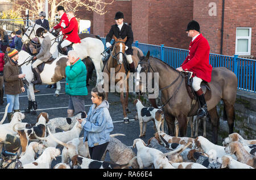
<path id="1" fill-rule="evenodd" d="M 27 85 L 28 108 L 25 110 L 25 113 L 30 113 L 30 109 L 33 106 L 34 110 L 31 113 L 36 114 L 37 104 L 35 101 L 34 84 L 31 83 L 34 79 L 34 73 L 32 72 L 31 62 L 28 62 L 31 57 L 26 51 L 20 50 L 18 65 L 21 65 L 22 73 L 26 74 L 25 84 Z M 46 63 L 43 71 L 40 73 L 42 84 L 54 84 L 65 78 L 66 62 L 67 55 L 62 55 L 56 58 L 51 64 Z"/>

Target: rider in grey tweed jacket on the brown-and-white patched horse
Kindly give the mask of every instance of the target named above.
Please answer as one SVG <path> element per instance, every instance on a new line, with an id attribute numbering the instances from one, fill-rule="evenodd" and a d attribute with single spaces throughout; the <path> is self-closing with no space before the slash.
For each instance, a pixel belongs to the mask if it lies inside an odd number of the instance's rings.
<path id="1" fill-rule="evenodd" d="M 32 71 L 34 72 L 34 77 L 36 78 L 36 80 L 31 82 L 33 84 L 42 84 L 40 72 L 37 66 L 43 62 L 47 62 L 52 55 L 50 53 L 51 38 L 49 37 L 49 35 L 46 35 L 46 33 L 47 30 L 44 28 L 38 28 L 36 30 L 36 36 L 38 36 L 39 38 L 43 38 L 43 42 L 40 52 L 33 58 L 34 60 L 36 60 L 34 63 L 32 63 Z"/>

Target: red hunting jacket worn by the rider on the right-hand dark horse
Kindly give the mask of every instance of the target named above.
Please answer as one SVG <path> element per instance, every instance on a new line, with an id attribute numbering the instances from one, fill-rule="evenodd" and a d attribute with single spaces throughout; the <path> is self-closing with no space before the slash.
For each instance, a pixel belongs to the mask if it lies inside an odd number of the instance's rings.
<path id="1" fill-rule="evenodd" d="M 188 56 L 182 63 L 184 71 L 192 71 L 194 76 L 210 82 L 212 78 L 212 65 L 209 64 L 210 46 L 207 39 L 200 34 L 189 44 Z"/>

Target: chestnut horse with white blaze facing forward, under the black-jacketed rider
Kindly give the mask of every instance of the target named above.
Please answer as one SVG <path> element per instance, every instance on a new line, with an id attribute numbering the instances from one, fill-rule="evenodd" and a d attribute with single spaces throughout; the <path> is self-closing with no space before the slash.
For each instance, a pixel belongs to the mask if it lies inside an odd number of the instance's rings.
<path id="1" fill-rule="evenodd" d="M 122 108 L 123 108 L 123 121 L 125 123 L 129 123 L 129 118 L 127 117 L 127 112 L 129 112 L 129 109 L 128 109 L 128 97 L 129 97 L 128 96 L 129 95 L 128 80 L 129 80 L 129 76 L 130 76 L 130 71 L 127 71 L 127 69 L 125 68 L 125 65 L 124 65 L 126 62 L 122 60 L 124 57 L 124 54 L 125 54 L 126 38 L 127 37 L 122 39 L 122 38 L 116 38 L 114 36 L 115 44 L 113 46 L 113 50 L 108 59 L 108 62 L 106 62 L 105 66 L 102 70 L 102 72 L 105 72 L 105 73 L 103 73 L 102 80 L 101 80 L 100 84 L 101 85 L 104 84 L 104 89 L 106 92 L 106 100 L 108 100 L 109 84 L 111 82 L 114 82 L 114 84 L 117 84 L 117 83 L 119 84 L 120 101 L 122 103 Z M 138 66 L 138 62 L 139 62 L 138 54 L 143 55 L 143 53 L 140 49 L 138 49 L 136 47 L 132 47 L 132 48 L 133 48 L 132 58 L 133 58 L 134 66 L 136 68 Z M 111 71 L 111 69 L 113 71 Z M 114 77 L 111 76 L 110 72 L 113 73 Z M 111 88 L 112 87 L 110 86 L 110 92 L 112 92 Z M 124 92 L 126 93 L 125 97 L 124 97 Z"/>

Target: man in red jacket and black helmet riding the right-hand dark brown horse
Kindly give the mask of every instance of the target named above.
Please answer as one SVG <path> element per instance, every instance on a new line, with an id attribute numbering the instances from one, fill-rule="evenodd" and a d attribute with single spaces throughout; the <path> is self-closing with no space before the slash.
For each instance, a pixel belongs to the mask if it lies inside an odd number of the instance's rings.
<path id="1" fill-rule="evenodd" d="M 200 109 L 197 117 L 206 117 L 207 103 L 204 98 L 204 92 L 200 87 L 201 82 L 210 82 L 212 77 L 212 66 L 209 64 L 210 46 L 207 39 L 200 33 L 200 25 L 195 20 L 188 23 L 188 37 L 192 37 L 189 44 L 188 56 L 182 65 L 176 68 L 177 71 L 192 71 L 193 83 L 192 87 L 199 99 Z"/>

